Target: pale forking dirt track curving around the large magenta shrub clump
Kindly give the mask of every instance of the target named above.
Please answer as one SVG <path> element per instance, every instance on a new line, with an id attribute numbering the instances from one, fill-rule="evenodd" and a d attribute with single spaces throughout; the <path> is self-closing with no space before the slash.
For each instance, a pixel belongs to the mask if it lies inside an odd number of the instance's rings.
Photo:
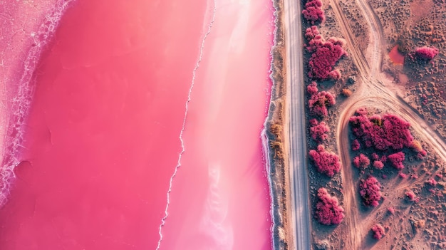
<path id="1" fill-rule="evenodd" d="M 363 13 L 365 21 L 370 27 L 370 41 L 367 52 L 358 49 L 357 42 L 351 36 L 351 28 L 348 26 L 346 16 L 343 16 L 338 6 L 338 0 L 331 0 L 336 19 L 341 26 L 343 36 L 348 42 L 351 50 L 351 57 L 358 67 L 361 75 L 361 83 L 358 83 L 358 89 L 341 106 L 342 112 L 337 127 L 337 142 L 340 152 L 341 161 L 343 163 L 343 171 L 341 177 L 343 179 L 344 206 L 346 208 L 346 221 L 349 226 L 348 235 L 346 236 L 345 249 L 361 249 L 361 242 L 364 239 L 365 232 L 368 229 L 361 228 L 365 226 L 361 224 L 358 213 L 358 199 L 356 198 L 356 186 L 353 181 L 353 171 L 351 167 L 351 157 L 349 154 L 350 145 L 348 142 L 348 118 L 353 115 L 355 110 L 364 106 L 372 106 L 380 108 L 400 115 L 412 124 L 412 129 L 423 137 L 423 140 L 432 145 L 435 152 L 446 161 L 446 144 L 434 130 L 430 128 L 425 120 L 423 120 L 417 112 L 415 112 L 407 103 L 405 103 L 394 90 L 390 90 L 385 84 L 388 81 L 380 66 L 383 57 L 383 28 L 378 18 L 375 16 L 373 9 L 365 0 L 356 0 L 356 4 Z"/>

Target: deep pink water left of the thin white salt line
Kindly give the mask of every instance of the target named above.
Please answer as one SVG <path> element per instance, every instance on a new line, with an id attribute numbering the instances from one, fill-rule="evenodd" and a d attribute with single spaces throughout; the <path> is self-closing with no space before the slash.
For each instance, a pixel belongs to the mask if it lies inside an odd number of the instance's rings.
<path id="1" fill-rule="evenodd" d="M 0 249 L 155 249 L 205 7 L 68 9 L 37 70 Z"/>

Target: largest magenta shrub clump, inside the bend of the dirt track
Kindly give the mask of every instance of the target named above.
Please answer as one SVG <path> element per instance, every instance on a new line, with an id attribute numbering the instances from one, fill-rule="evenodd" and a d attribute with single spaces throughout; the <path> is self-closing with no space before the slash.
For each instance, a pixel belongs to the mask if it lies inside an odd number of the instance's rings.
<path id="1" fill-rule="evenodd" d="M 377 150 L 400 150 L 410 147 L 413 136 L 410 133 L 410 123 L 396 115 L 386 114 L 381 118 L 378 115 L 367 117 L 365 109 L 358 110 L 357 115 L 350 118 L 353 135 L 363 140 L 366 147 L 375 147 Z"/>

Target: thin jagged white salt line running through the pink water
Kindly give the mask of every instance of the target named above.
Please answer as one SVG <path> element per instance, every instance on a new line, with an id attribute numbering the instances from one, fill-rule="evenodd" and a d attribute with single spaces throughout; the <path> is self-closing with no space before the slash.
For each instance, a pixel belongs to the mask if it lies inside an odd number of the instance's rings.
<path id="1" fill-rule="evenodd" d="M 199 63 L 201 63 L 202 58 L 203 58 L 204 43 L 205 43 L 206 38 L 209 35 L 209 33 L 211 33 L 211 28 L 212 28 L 212 25 L 214 24 L 214 20 L 215 20 L 215 11 L 216 11 L 215 0 L 213 1 L 213 4 L 214 4 L 214 7 L 212 8 L 212 19 L 211 19 L 211 21 L 209 23 L 209 26 L 207 26 L 207 32 L 203 36 L 202 44 L 201 44 L 201 47 L 199 48 L 198 60 L 197 60 L 197 63 L 195 64 L 194 70 L 192 71 L 192 83 L 190 85 L 189 92 L 187 93 L 187 100 L 186 100 L 186 104 L 185 104 L 185 116 L 183 118 L 182 127 L 181 127 L 181 131 L 180 131 L 180 142 L 181 142 L 182 150 L 180 152 L 180 155 L 178 156 L 178 162 L 177 162 L 177 165 L 175 166 L 175 170 L 174 170 L 172 176 L 170 177 L 169 189 L 167 189 L 166 208 L 165 208 L 165 211 L 164 211 L 165 216 L 162 217 L 161 224 L 160 224 L 160 227 L 159 227 L 159 230 L 158 230 L 158 234 L 160 234 L 160 239 L 158 240 L 158 244 L 157 244 L 156 250 L 160 249 L 161 242 L 162 242 L 162 226 L 165 225 L 165 221 L 166 221 L 167 217 L 169 216 L 170 192 L 172 192 L 172 182 L 173 182 L 173 179 L 175 178 L 175 176 L 177 175 L 178 168 L 181 167 L 182 155 L 185 153 L 185 142 L 182 139 L 182 135 L 185 132 L 186 120 L 187 120 L 187 112 L 189 111 L 189 103 L 190 103 L 190 100 L 191 100 L 192 90 L 193 90 L 194 85 L 195 85 L 195 76 L 196 76 L 197 70 L 199 68 Z"/>

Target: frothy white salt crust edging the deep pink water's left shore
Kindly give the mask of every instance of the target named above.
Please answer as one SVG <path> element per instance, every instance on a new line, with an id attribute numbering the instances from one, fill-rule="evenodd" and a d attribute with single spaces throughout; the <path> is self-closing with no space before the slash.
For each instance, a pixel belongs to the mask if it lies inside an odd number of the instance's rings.
<path id="1" fill-rule="evenodd" d="M 58 0 L 53 9 L 48 10 L 48 14 L 43 19 L 41 26 L 31 33 L 33 46 L 28 51 L 28 56 L 24 61 L 23 74 L 18 83 L 4 83 L 5 85 L 17 85 L 18 90 L 11 100 L 10 118 L 7 120 L 8 128 L 6 132 L 5 144 L 7 147 L 3 150 L 3 160 L 0 167 L 0 207 L 3 207 L 9 196 L 11 183 L 16 176 L 14 168 L 19 165 L 19 152 L 23 147 L 24 140 L 24 121 L 28 114 L 28 109 L 33 98 L 34 82 L 33 73 L 36 69 L 38 60 L 43 48 L 46 46 L 58 26 L 59 21 L 67 7 L 74 0 Z"/>

